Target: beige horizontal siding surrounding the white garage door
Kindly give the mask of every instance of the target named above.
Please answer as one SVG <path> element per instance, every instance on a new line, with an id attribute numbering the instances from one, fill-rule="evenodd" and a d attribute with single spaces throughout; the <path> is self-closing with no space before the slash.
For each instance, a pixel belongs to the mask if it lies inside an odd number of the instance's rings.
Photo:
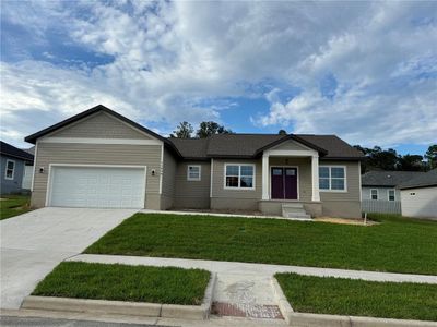
<path id="1" fill-rule="evenodd" d="M 147 167 L 146 208 L 160 209 L 160 174 L 152 177 L 151 170 L 161 169 L 161 145 L 38 143 L 37 147 L 33 206 L 45 206 L 50 164 L 135 165 Z M 44 173 L 39 173 L 40 167 Z"/>

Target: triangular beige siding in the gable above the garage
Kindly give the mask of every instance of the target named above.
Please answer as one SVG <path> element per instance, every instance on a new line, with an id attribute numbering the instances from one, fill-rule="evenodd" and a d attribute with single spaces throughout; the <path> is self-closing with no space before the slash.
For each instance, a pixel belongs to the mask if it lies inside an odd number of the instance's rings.
<path id="1" fill-rule="evenodd" d="M 94 137 L 94 138 L 152 138 L 127 123 L 105 112 L 74 122 L 49 136 L 56 137 Z"/>

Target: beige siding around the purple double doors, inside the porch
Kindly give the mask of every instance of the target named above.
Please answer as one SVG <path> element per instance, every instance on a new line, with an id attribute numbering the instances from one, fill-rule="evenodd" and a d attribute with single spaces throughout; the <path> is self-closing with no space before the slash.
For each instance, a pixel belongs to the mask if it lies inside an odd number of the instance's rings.
<path id="1" fill-rule="evenodd" d="M 311 177 L 311 159 L 310 158 L 284 158 L 284 157 L 270 157 L 269 166 L 295 166 L 297 167 L 299 201 L 312 199 L 312 177 Z M 269 167 L 269 168 L 270 168 Z M 271 170 L 269 169 L 269 185 L 271 183 Z M 270 186 L 269 186 L 270 187 Z"/>

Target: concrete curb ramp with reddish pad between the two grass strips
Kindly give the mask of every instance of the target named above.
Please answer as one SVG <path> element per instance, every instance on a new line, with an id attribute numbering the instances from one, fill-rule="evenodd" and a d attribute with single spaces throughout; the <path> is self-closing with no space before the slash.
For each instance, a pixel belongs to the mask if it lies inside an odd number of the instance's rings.
<path id="1" fill-rule="evenodd" d="M 212 314 L 282 319 L 270 277 L 218 274 Z"/>

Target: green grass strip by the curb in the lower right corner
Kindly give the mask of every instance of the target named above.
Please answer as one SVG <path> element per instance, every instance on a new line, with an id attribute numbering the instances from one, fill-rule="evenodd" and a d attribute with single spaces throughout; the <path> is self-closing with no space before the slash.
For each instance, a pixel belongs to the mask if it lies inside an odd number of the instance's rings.
<path id="1" fill-rule="evenodd" d="M 437 284 L 277 274 L 296 312 L 437 320 Z"/>

